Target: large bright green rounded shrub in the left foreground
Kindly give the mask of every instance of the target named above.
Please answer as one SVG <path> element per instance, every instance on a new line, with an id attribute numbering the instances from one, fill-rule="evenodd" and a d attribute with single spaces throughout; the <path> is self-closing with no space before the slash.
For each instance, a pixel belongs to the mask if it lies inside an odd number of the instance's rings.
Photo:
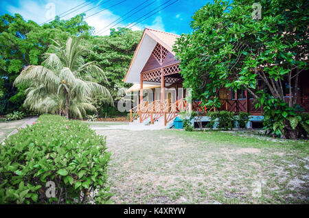
<path id="1" fill-rule="evenodd" d="M 0 204 L 108 202 L 104 136 L 85 123 L 55 115 L 38 121 L 6 138 L 0 146 Z M 49 184 L 55 184 L 50 197 Z"/>

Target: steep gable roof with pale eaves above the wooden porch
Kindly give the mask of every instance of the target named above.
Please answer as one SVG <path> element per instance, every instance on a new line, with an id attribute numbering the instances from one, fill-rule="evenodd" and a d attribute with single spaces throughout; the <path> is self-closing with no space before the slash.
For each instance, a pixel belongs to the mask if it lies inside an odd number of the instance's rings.
<path id="1" fill-rule="evenodd" d="M 175 55 L 175 53 L 172 51 L 172 47 L 176 41 L 177 38 L 179 38 L 179 35 L 176 34 L 170 34 L 168 32 L 163 32 L 160 30 L 156 30 L 156 29 L 149 29 L 149 28 L 145 28 L 143 35 L 141 36 L 141 40 L 139 40 L 139 44 L 137 45 L 137 48 L 135 49 L 135 52 L 133 54 L 133 58 L 130 62 L 130 65 L 128 67 L 128 71 L 126 72 L 126 75 L 124 76 L 124 79 L 122 80 L 123 82 L 126 82 L 127 77 L 129 75 L 129 73 L 132 71 L 139 71 L 138 73 L 141 72 L 141 70 L 144 68 L 144 65 L 146 64 L 152 50 L 155 48 L 155 45 L 157 45 L 157 43 L 159 43 L 160 45 L 162 45 L 163 47 L 165 47 L 165 49 L 168 49 L 168 51 L 170 51 L 170 53 L 172 53 L 173 55 Z M 143 51 L 140 51 L 143 50 Z M 140 52 L 139 52 L 140 51 Z M 141 55 L 139 55 L 139 53 L 141 53 Z M 149 55 L 145 56 L 146 53 Z M 137 64 L 136 62 L 139 62 L 139 64 Z M 137 65 L 142 65 L 141 66 L 137 66 Z M 135 78 L 136 80 L 136 78 Z M 128 82 L 139 82 L 139 81 L 128 81 Z"/>

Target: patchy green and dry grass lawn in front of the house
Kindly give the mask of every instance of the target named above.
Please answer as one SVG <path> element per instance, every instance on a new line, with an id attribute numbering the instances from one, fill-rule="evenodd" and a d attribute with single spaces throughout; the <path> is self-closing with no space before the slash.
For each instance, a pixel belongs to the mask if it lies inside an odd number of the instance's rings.
<path id="1" fill-rule="evenodd" d="M 116 204 L 309 203 L 309 143 L 252 132 L 96 130 Z"/>

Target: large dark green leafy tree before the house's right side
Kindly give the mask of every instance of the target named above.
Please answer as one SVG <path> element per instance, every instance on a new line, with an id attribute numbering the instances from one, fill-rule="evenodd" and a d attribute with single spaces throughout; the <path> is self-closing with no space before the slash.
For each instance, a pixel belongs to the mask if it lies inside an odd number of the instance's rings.
<path id="1" fill-rule="evenodd" d="M 262 6 L 261 19 L 251 16 L 255 2 Z M 193 16 L 192 34 L 183 34 L 174 47 L 184 86 L 205 104 L 218 107 L 219 88 L 245 89 L 258 99 L 255 106 L 264 107 L 273 133 L 306 136 L 309 123 L 301 120 L 293 105 L 299 73 L 308 69 L 308 8 L 308 1 L 207 3 Z M 262 90 L 258 80 L 264 84 Z M 290 123 L 295 118 L 296 126 Z"/>

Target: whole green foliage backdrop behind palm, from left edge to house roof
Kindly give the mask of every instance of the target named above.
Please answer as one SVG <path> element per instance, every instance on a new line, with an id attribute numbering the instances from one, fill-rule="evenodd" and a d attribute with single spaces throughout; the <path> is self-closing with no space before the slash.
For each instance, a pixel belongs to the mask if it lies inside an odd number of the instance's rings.
<path id="1" fill-rule="evenodd" d="M 106 74 L 108 83 L 104 83 L 102 73 L 91 73 L 93 82 L 98 82 L 117 100 L 117 90 L 124 86 L 122 79 L 126 73 L 130 59 L 139 42 L 141 31 L 130 29 L 111 29 L 110 36 L 93 36 L 93 27 L 83 21 L 84 14 L 69 20 L 59 17 L 50 23 L 38 25 L 33 21 L 25 21 L 22 16 L 5 14 L 0 16 L 0 114 L 14 110 L 30 111 L 23 108 L 27 84 L 12 86 L 19 73 L 29 65 L 41 65 L 45 53 L 52 53 L 52 39 L 61 41 L 69 37 L 82 36 L 82 45 L 89 53 L 82 56 L 84 62 L 96 61 Z M 127 85 L 128 86 L 128 85 Z M 100 95 L 93 99 L 95 108 L 104 117 L 117 115 L 117 109 L 107 104 Z"/>

